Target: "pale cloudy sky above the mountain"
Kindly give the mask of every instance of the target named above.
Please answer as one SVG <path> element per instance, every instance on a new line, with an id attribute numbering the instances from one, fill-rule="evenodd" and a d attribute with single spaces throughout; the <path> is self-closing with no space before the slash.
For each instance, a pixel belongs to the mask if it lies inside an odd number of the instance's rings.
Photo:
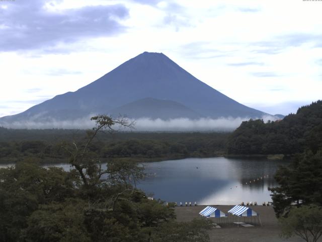
<path id="1" fill-rule="evenodd" d="M 322 99 L 322 1 L 0 0 L 0 117 L 163 52 L 270 114 Z"/>

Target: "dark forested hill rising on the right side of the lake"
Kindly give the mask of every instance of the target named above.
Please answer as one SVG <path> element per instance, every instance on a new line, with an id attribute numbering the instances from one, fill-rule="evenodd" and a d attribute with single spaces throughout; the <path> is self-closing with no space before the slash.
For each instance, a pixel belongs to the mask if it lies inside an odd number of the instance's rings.
<path id="1" fill-rule="evenodd" d="M 276 122 L 243 122 L 228 138 L 228 154 L 294 154 L 322 147 L 322 101 Z"/>

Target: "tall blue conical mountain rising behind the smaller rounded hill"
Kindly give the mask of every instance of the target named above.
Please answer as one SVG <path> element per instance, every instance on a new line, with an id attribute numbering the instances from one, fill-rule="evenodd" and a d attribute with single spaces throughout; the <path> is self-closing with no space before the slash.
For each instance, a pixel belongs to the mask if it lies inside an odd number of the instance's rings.
<path id="1" fill-rule="evenodd" d="M 203 117 L 260 117 L 264 114 L 199 81 L 163 53 L 144 52 L 75 92 L 57 95 L 2 120 L 73 119 L 110 113 L 146 97 L 179 102 Z"/>

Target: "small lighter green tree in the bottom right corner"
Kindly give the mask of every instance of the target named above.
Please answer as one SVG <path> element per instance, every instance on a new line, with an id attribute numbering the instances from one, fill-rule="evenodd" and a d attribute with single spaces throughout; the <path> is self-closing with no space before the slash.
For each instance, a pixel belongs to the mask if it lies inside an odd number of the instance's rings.
<path id="1" fill-rule="evenodd" d="M 279 219 L 282 236 L 300 236 L 306 242 L 316 242 L 322 235 L 322 208 L 317 206 L 292 207 L 286 218 Z"/>

